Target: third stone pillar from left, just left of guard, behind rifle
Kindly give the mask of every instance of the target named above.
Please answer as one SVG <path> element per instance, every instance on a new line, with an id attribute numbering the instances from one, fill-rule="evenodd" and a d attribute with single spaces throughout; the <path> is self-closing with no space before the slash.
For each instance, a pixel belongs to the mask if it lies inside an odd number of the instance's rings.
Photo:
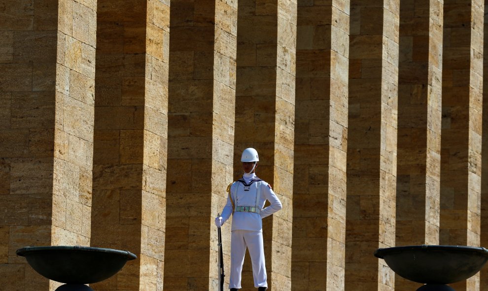
<path id="1" fill-rule="evenodd" d="M 237 1 L 172 1 L 171 32 L 165 289 L 217 290 L 213 220 L 232 181 Z"/>

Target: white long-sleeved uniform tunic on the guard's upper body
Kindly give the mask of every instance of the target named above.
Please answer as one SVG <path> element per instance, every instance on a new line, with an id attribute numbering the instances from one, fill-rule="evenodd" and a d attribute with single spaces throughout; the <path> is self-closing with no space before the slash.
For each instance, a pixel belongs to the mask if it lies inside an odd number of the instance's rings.
<path id="1" fill-rule="evenodd" d="M 249 182 L 254 179 L 258 179 L 254 173 L 244 174 L 243 178 L 246 184 L 249 184 Z M 261 185 L 259 186 L 259 184 Z M 260 195 L 256 203 L 258 189 L 260 189 Z M 268 183 L 262 180 L 252 182 L 249 186 L 249 190 L 244 191 L 244 184 L 236 181 L 231 185 L 227 204 L 225 204 L 225 207 L 222 210 L 222 224 L 229 219 L 234 210 L 231 197 L 235 207 L 250 206 L 260 209 L 259 214 L 253 212 L 234 212 L 234 217 L 232 218 L 232 231 L 251 230 L 261 232 L 263 231 L 262 219 L 279 211 L 282 207 L 281 202 Z M 268 200 L 271 205 L 263 209 L 266 200 Z"/>

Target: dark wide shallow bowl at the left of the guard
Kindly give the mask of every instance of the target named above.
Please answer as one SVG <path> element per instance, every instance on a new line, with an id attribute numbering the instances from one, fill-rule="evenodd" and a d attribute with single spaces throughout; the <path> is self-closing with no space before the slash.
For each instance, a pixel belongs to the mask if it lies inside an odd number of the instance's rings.
<path id="1" fill-rule="evenodd" d="M 80 246 L 25 247 L 16 251 L 40 275 L 66 284 L 91 284 L 115 275 L 128 260 L 128 251 Z"/>

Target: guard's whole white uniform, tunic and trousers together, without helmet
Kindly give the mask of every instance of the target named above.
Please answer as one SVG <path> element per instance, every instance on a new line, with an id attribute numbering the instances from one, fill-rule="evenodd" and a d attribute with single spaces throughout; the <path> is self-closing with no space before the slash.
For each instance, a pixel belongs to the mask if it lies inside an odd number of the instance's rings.
<path id="1" fill-rule="evenodd" d="M 271 205 L 263 209 L 265 201 Z M 233 205 L 234 204 L 234 205 Z M 281 202 L 271 186 L 256 177 L 244 174 L 231 185 L 227 204 L 222 211 L 222 224 L 232 218 L 231 269 L 229 288 L 241 289 L 241 273 L 246 248 L 252 262 L 254 287 L 268 287 L 263 247 L 262 219 L 281 209 Z"/>

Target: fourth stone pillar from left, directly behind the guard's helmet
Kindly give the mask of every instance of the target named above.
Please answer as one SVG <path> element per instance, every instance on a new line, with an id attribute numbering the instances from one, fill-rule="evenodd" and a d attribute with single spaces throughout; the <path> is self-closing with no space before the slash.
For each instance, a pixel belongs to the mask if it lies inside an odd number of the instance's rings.
<path id="1" fill-rule="evenodd" d="M 242 176 L 242 151 L 254 147 L 257 175 L 283 204 L 263 220 L 270 290 L 291 289 L 296 6 L 294 0 L 239 2 L 234 178 Z M 252 282 L 244 272 L 243 288 Z"/>

